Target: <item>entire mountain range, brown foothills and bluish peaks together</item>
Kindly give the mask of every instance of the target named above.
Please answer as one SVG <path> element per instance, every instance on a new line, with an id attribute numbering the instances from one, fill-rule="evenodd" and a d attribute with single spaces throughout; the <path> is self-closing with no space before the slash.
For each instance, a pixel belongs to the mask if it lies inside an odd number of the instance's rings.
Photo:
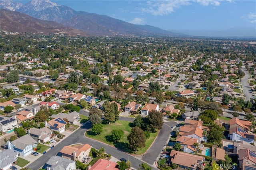
<path id="1" fill-rule="evenodd" d="M 31 0 L 21 4 L 1 0 L 1 30 L 32 33 L 60 33 L 70 36 L 181 36 L 149 25 L 136 25 L 106 15 L 75 11 L 50 0 Z M 9 11 L 7 11 L 9 10 Z M 23 13 L 23 14 L 22 14 Z"/>

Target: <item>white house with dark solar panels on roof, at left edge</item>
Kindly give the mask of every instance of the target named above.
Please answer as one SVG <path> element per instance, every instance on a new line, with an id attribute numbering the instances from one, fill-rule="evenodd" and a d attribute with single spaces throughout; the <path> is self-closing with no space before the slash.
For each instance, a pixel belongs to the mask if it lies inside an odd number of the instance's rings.
<path id="1" fill-rule="evenodd" d="M 18 126 L 18 122 L 15 116 L 13 117 L 3 117 L 0 116 L 0 131 L 2 132 L 12 132 L 14 127 Z"/>

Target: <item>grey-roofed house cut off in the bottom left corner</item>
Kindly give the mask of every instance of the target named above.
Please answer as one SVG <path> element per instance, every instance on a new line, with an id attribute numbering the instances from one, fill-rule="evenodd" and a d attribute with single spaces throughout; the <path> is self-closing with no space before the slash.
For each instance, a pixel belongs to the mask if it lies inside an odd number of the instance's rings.
<path id="1" fill-rule="evenodd" d="M 13 150 L 6 149 L 0 154 L 0 170 L 8 170 L 12 164 L 17 161 L 18 153 Z"/>

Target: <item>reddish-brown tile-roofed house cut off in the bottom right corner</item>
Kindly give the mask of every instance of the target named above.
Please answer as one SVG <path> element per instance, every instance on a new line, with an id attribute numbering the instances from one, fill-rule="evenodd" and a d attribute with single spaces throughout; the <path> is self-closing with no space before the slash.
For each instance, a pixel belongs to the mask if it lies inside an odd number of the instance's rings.
<path id="1" fill-rule="evenodd" d="M 242 170 L 256 170 L 256 152 L 249 149 L 239 150 L 239 168 Z"/>

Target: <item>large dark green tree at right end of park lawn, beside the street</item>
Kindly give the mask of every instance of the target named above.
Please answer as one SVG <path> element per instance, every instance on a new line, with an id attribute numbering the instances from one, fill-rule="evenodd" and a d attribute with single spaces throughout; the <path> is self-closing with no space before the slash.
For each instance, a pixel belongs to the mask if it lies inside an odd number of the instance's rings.
<path id="1" fill-rule="evenodd" d="M 148 119 L 149 125 L 151 126 L 152 131 L 155 131 L 156 128 L 159 130 L 164 125 L 162 113 L 158 111 L 150 111 L 148 113 L 147 119 Z"/>

